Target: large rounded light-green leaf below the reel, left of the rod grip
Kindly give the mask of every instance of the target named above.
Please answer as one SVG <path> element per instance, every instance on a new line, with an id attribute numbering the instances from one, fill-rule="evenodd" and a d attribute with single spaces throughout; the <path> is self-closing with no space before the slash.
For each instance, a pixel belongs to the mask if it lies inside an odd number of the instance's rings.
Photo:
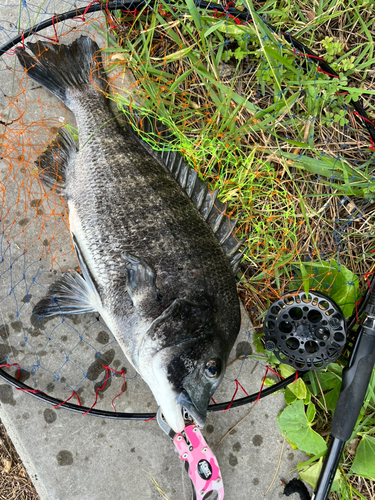
<path id="1" fill-rule="evenodd" d="M 277 417 L 277 424 L 282 434 L 300 450 L 316 455 L 327 449 L 324 439 L 312 430 L 302 400 L 287 406 Z"/>

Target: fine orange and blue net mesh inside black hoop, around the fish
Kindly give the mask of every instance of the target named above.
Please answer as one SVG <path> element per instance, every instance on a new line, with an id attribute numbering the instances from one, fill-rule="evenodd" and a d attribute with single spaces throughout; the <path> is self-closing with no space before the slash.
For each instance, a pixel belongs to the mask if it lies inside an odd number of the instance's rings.
<path id="1" fill-rule="evenodd" d="M 229 4 L 222 12 L 181 1 L 103 8 L 59 22 L 55 12 L 74 5 L 22 2 L 18 12 L 9 7 L 9 16 L 2 6 L 0 43 L 53 16 L 33 41 L 70 43 L 81 35 L 97 41 L 119 121 L 154 149 L 168 142 L 181 152 L 210 189 L 219 189 L 227 215 L 238 219 L 236 236 L 245 242 L 238 289 L 256 326 L 290 290 L 322 291 L 346 317 L 355 313 L 375 258 L 374 150 L 352 106 L 359 76 L 340 57 L 344 42 L 336 47 L 335 77 L 264 22 L 266 6 L 259 6 L 260 16 L 249 11 L 247 20 L 232 15 Z M 317 41 L 306 43 L 324 56 L 323 37 L 318 30 L 314 35 Z M 361 43 L 353 35 L 352 47 Z M 0 365 L 61 400 L 74 395 L 90 407 L 98 399 L 100 407 L 115 403 L 123 411 L 139 401 L 138 411 L 155 409 L 100 318 L 32 314 L 56 276 L 78 269 L 65 202 L 57 185 L 43 186 L 37 168 L 58 128 L 68 124 L 75 136 L 75 122 L 27 78 L 14 49 L 0 70 Z M 371 92 L 365 99 L 372 109 Z M 146 114 L 159 121 L 151 132 Z M 237 361 L 215 400 L 230 400 L 235 381 L 246 391 L 252 342 L 246 324 L 231 357 Z"/>

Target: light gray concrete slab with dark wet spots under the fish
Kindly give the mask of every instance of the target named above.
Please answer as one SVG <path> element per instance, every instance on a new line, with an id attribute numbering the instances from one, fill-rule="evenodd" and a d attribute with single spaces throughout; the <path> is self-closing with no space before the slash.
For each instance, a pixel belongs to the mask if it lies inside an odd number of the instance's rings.
<path id="1" fill-rule="evenodd" d="M 28 14 L 37 12 L 38 7 L 30 6 L 27 10 L 25 5 L 22 4 L 21 27 L 26 27 Z M 53 13 L 64 12 L 71 5 L 56 2 L 48 3 L 47 7 Z M 2 19 L 6 19 L 0 23 L 4 29 L 8 29 L 6 23 L 8 26 L 9 23 L 16 24 L 18 5 L 2 6 L 1 9 Z M 85 30 L 92 32 L 91 27 Z M 44 34 L 52 36 L 53 31 L 49 29 Z M 77 35 L 74 32 L 72 36 Z M 6 56 L 0 65 L 0 89 L 8 96 L 13 95 L 14 81 L 6 65 L 13 67 L 14 59 L 14 56 Z M 74 123 L 70 113 L 44 89 L 29 85 L 23 99 L 27 102 L 27 114 L 23 120 L 40 120 L 42 114 L 48 127 L 44 132 L 39 129 L 32 133 L 25 132 L 18 150 L 11 153 L 14 165 L 21 151 L 29 151 L 25 146 L 28 140 L 32 144 L 43 145 L 52 127 L 66 121 Z M 5 97 L 0 99 L 0 109 L 4 109 L 7 102 Z M 22 107 L 21 98 L 18 102 Z M 15 110 L 9 112 L 7 119 L 9 116 L 12 118 L 12 113 L 17 114 Z M 8 127 L 9 131 L 12 127 L 16 130 L 19 123 Z M 35 160 L 32 149 L 29 155 L 32 165 Z M 6 158 L 4 161 L 0 165 L 2 179 L 6 178 L 9 167 Z M 116 399 L 117 409 L 156 410 L 148 387 L 136 376 L 105 325 L 95 315 L 70 317 L 64 321 L 54 318 L 43 323 L 36 322 L 32 316 L 33 304 L 59 274 L 58 266 L 49 272 L 51 254 L 47 253 L 39 260 L 43 245 L 56 250 L 60 255 L 58 264 L 63 269 L 73 269 L 77 262 L 72 253 L 66 254 L 71 249 L 69 235 L 63 231 L 66 219 L 58 216 L 45 221 L 53 198 L 46 199 L 38 207 L 37 200 L 44 196 L 43 188 L 36 185 L 29 191 L 20 189 L 23 176 L 27 174 L 24 166 L 22 168 L 19 168 L 13 181 L 4 184 L 3 208 L 6 209 L 2 213 L 6 213 L 6 217 L 2 224 L 7 232 L 4 237 L 0 236 L 0 255 L 3 257 L 0 262 L 0 364 L 18 363 L 23 368 L 21 380 L 60 399 L 66 399 L 75 390 L 87 406 L 94 402 L 95 388 L 105 380 L 103 363 L 117 370 L 125 368 L 127 390 Z M 20 201 L 13 205 L 17 198 Z M 54 203 L 56 214 L 62 214 L 64 207 L 56 199 Z M 13 221 L 16 221 L 14 225 Z M 42 229 L 41 221 L 45 222 Z M 20 228 L 24 231 L 20 232 Z M 7 246 L 9 234 L 12 239 Z M 25 245 L 25 238 L 31 242 L 38 235 L 41 238 L 34 244 Z M 28 249 L 24 255 L 26 246 Z M 233 359 L 246 348 L 249 352 L 251 331 L 249 320 L 244 317 L 243 328 L 232 353 Z M 14 374 L 15 370 L 12 369 L 11 373 Z M 220 387 L 215 399 L 220 402 L 231 398 L 235 388 L 234 378 L 238 378 L 249 393 L 256 392 L 263 375 L 261 363 L 246 360 L 242 366 L 242 362 L 237 361 L 229 368 L 228 380 Z M 121 388 L 121 377 L 112 377 L 105 391 L 99 393 L 97 407 L 110 410 L 111 401 Z M 277 470 L 283 448 L 283 438 L 276 425 L 276 416 L 283 407 L 281 394 L 260 401 L 246 420 L 215 450 L 224 478 L 226 499 L 255 500 L 264 496 Z M 249 410 L 247 406 L 210 414 L 204 429 L 208 444 L 215 448 L 224 434 Z M 42 500 L 156 500 L 161 496 L 151 477 L 172 500 L 191 499 L 190 482 L 183 464 L 169 438 L 155 421 L 125 422 L 77 415 L 41 403 L 2 381 L 0 418 Z M 280 479 L 288 481 L 297 476 L 292 471 L 298 461 L 304 460 L 306 456 L 303 453 L 293 451 L 285 442 L 280 468 L 266 498 L 281 498 Z M 297 500 L 296 495 L 289 498 Z"/>

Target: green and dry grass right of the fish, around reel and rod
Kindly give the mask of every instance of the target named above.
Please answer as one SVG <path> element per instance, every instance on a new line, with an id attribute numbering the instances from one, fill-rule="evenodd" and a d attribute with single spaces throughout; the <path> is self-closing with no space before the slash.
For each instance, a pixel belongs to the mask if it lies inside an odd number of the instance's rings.
<path id="1" fill-rule="evenodd" d="M 162 146 L 157 132 L 143 133 L 131 116 L 137 110 L 162 121 L 173 147 L 219 188 L 246 242 L 239 290 L 258 325 L 269 305 L 296 287 L 319 289 L 338 302 L 350 297 L 340 304 L 349 316 L 375 265 L 374 153 L 350 106 L 361 97 L 374 117 L 374 7 L 368 0 L 236 4 L 249 7 L 253 22 L 215 18 L 192 0 L 118 18 L 105 52 L 112 69 L 134 80 L 113 98 L 155 148 Z M 261 17 L 325 57 L 339 78 L 317 72 Z M 317 376 L 320 386 L 314 378 L 306 386 L 308 416 L 312 431 L 326 440 L 338 387 L 333 384 L 332 394 L 329 383 L 340 382 L 341 365 Z M 353 434 L 366 451 L 374 434 L 374 387 L 373 380 Z M 339 495 L 369 499 L 373 483 L 354 474 L 353 466 L 361 470 L 355 457 L 346 449 Z M 307 464 L 315 475 L 318 460 Z"/>

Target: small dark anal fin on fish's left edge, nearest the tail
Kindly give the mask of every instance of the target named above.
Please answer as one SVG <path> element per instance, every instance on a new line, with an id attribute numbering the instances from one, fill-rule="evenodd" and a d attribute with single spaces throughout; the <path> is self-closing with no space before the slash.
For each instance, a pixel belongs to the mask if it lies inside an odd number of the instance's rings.
<path id="1" fill-rule="evenodd" d="M 39 179 L 62 197 L 65 197 L 65 172 L 74 161 L 76 151 L 71 135 L 63 127 L 35 162 Z"/>

